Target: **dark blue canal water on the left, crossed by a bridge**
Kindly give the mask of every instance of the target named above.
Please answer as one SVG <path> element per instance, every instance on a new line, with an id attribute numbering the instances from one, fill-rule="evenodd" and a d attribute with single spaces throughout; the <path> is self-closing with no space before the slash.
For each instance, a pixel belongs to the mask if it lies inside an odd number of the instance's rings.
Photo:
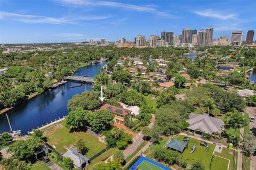
<path id="1" fill-rule="evenodd" d="M 75 75 L 94 77 L 105 63 L 85 66 L 75 72 Z M 36 129 L 37 126 L 50 123 L 55 119 L 68 114 L 68 100 L 76 94 L 82 94 L 85 90 L 91 90 L 90 84 L 81 87 L 69 88 L 79 82 L 68 81 L 60 87 L 44 92 L 7 112 L 13 130 L 21 130 L 22 134 Z M 5 114 L 0 115 L 0 133 L 10 131 Z"/>

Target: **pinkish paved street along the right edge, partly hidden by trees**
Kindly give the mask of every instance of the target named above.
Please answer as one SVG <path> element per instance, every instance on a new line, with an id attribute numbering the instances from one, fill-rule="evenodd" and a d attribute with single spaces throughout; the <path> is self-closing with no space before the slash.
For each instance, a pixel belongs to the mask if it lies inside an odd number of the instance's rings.
<path id="1" fill-rule="evenodd" d="M 256 117 L 256 107 L 247 107 L 246 113 L 250 116 Z M 250 122 L 250 133 L 256 136 L 256 122 Z M 251 170 L 256 170 L 256 153 L 251 156 Z"/>

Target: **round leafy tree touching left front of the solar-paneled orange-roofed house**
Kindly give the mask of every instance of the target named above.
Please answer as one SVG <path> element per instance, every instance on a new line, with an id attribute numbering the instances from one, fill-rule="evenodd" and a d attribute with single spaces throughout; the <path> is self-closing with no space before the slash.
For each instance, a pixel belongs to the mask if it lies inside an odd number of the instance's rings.
<path id="1" fill-rule="evenodd" d="M 114 115 L 108 110 L 96 111 L 86 115 L 87 122 L 94 130 L 109 130 L 113 125 Z"/>

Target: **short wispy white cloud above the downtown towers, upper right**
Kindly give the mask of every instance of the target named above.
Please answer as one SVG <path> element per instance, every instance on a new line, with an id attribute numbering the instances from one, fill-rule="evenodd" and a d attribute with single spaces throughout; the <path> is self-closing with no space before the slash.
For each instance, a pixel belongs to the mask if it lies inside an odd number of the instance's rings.
<path id="1" fill-rule="evenodd" d="M 213 11 L 211 9 L 196 10 L 196 11 L 192 11 L 192 12 L 197 14 L 197 15 L 200 15 L 200 16 L 217 18 L 217 19 L 221 19 L 221 20 L 235 19 L 235 16 L 237 15 L 237 14 L 225 14 L 223 12 Z"/>

